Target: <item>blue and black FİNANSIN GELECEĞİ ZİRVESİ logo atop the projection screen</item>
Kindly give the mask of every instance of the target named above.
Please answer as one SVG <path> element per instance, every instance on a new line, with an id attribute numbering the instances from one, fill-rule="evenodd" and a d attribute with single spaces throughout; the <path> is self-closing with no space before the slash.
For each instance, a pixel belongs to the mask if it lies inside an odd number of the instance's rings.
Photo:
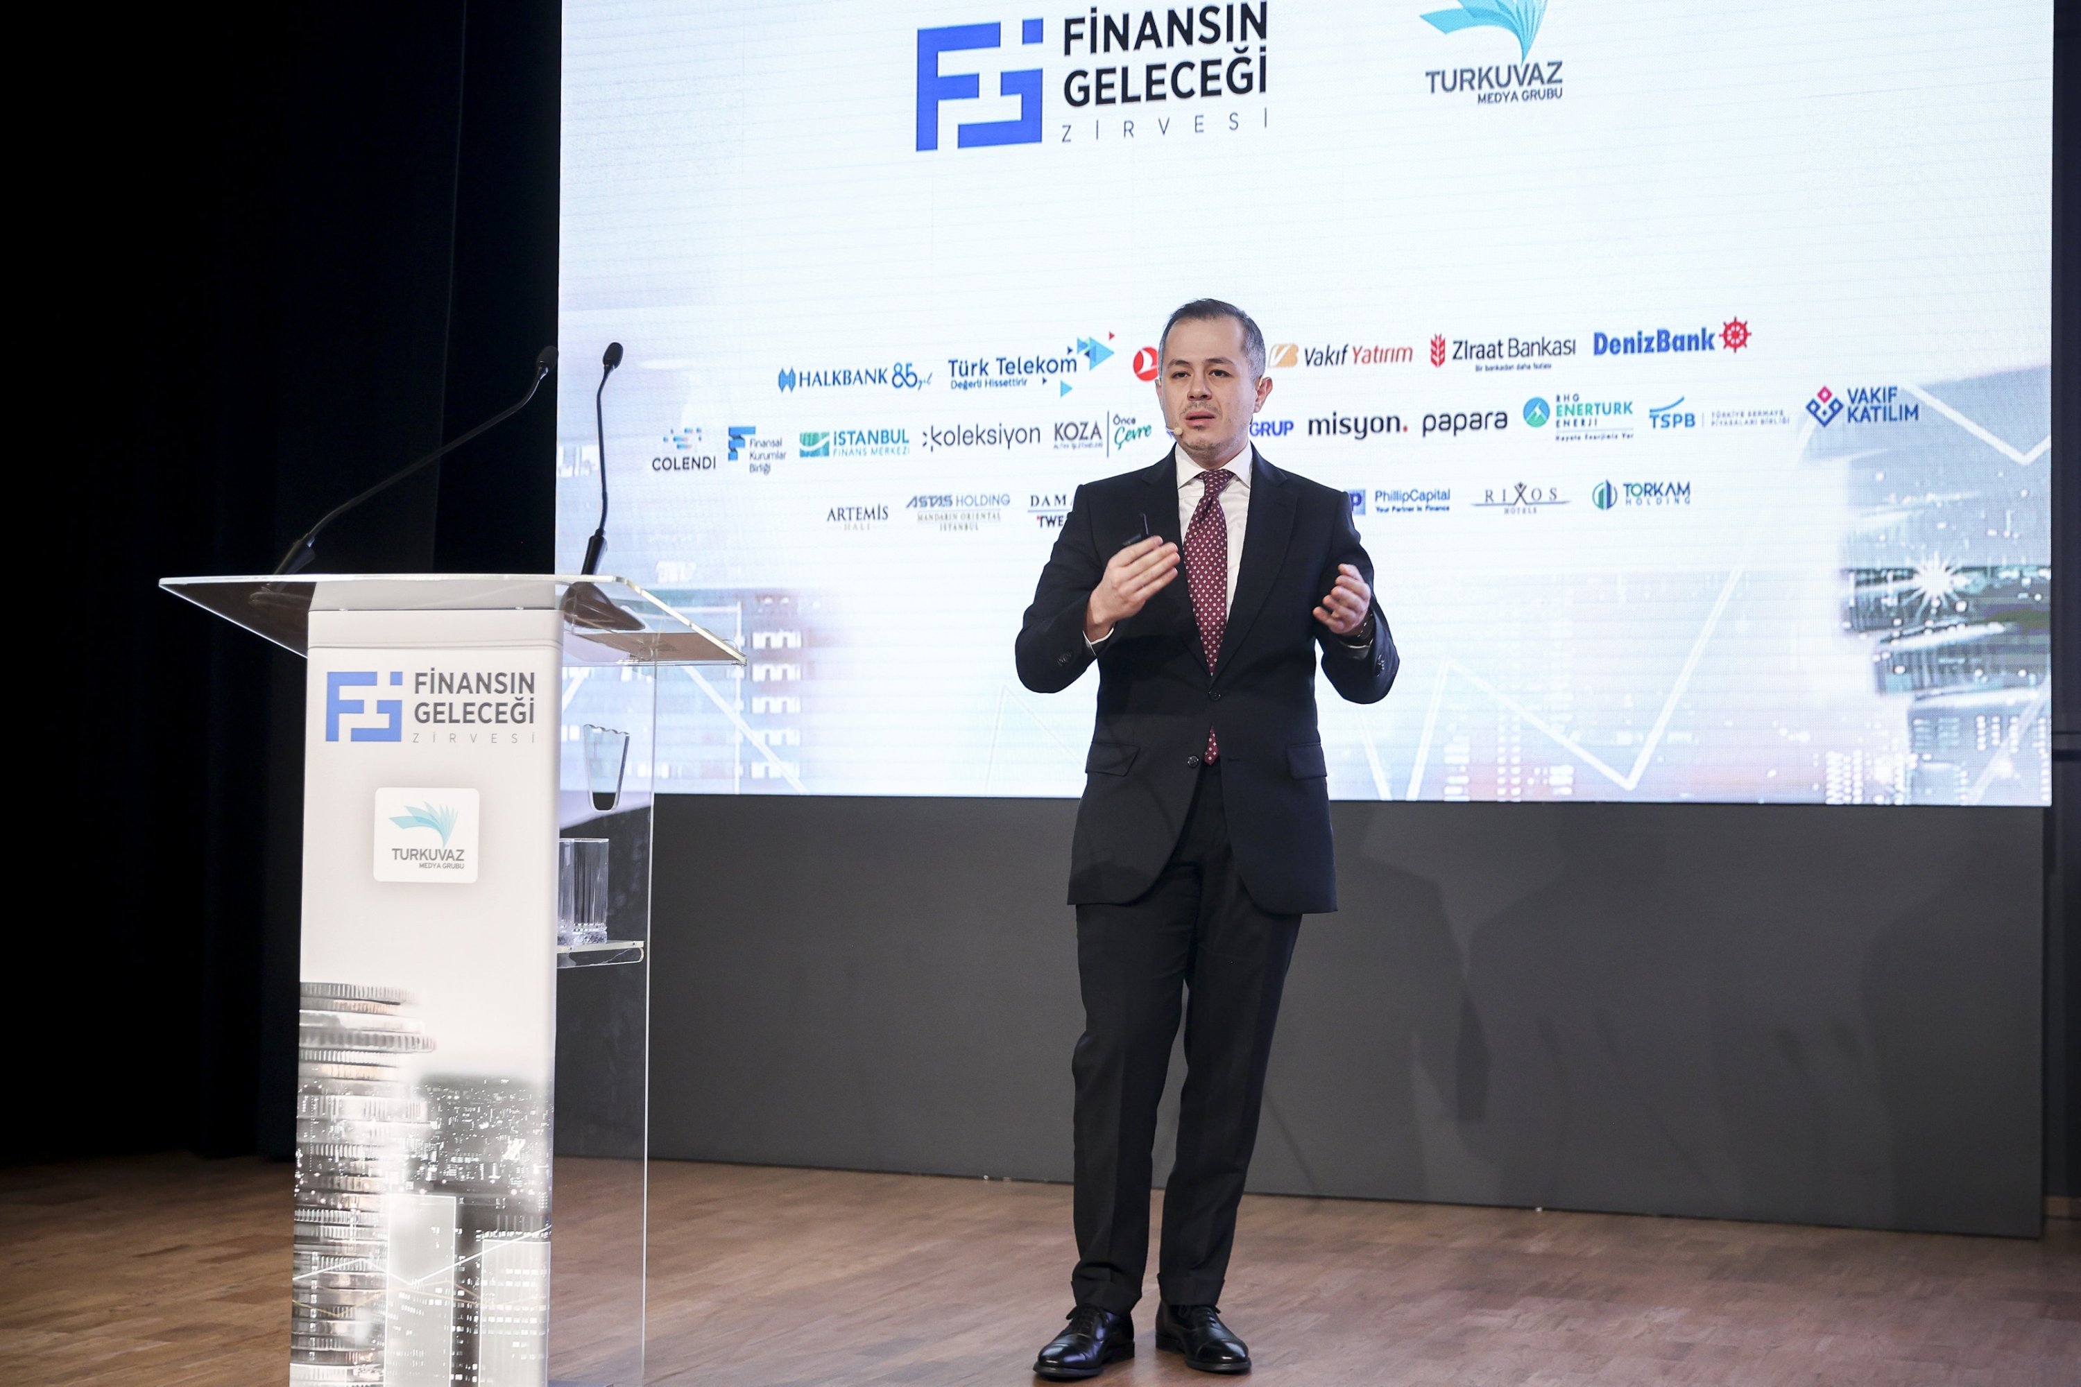
<path id="1" fill-rule="evenodd" d="M 1101 15 L 1088 10 L 1057 21 L 1061 33 L 1063 106 L 1082 112 L 1097 106 L 1140 106 L 1142 133 L 1170 135 L 1176 125 L 1205 133 L 1207 114 L 1180 112 L 1178 102 L 1207 102 L 1236 96 L 1263 96 L 1269 56 L 1271 0 L 1184 6 L 1176 10 L 1124 10 Z M 1016 46 L 1013 46 L 1016 35 Z M 918 150 L 939 150 L 939 108 L 947 102 L 982 102 L 982 73 L 943 73 L 943 54 L 1005 50 L 1007 62 L 1040 62 L 1049 56 L 1047 21 L 1022 19 L 1018 25 L 943 25 L 918 29 Z M 1211 50 L 1211 54 L 1209 54 Z M 1076 62 L 1076 67 L 1070 67 Z M 1043 143 L 1047 139 L 1047 87 L 1043 67 L 1001 67 L 999 98 L 1018 98 L 1018 114 L 999 121 L 961 121 L 953 127 L 959 150 L 986 150 L 1009 143 Z M 1217 116 L 1219 119 L 1219 116 Z M 1269 121 L 1269 114 L 1263 116 Z M 1122 135 L 1132 139 L 1134 121 L 1122 121 Z M 1240 129 L 1240 112 L 1228 112 L 1228 129 Z M 1076 123 L 1061 125 L 1059 143 L 1074 143 Z M 1093 135 L 1099 129 L 1093 127 Z"/>

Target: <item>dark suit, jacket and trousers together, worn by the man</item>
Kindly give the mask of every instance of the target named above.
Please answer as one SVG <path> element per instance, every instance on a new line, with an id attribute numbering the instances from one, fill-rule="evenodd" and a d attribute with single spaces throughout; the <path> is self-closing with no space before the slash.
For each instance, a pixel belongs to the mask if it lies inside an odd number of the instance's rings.
<path id="1" fill-rule="evenodd" d="M 1084 996 L 1072 1289 L 1115 1312 L 1140 1298 L 1155 1117 L 1180 1015 L 1186 1081 L 1157 1281 L 1176 1306 L 1219 1298 L 1301 915 L 1336 909 L 1317 651 L 1353 703 L 1386 697 L 1398 668 L 1378 603 L 1346 638 L 1313 616 L 1338 564 L 1373 578 L 1342 491 L 1251 449 L 1240 568 L 1211 674 L 1182 572 L 1097 655 L 1086 647 L 1084 603 L 1140 534 L 1182 539 L 1174 455 L 1078 489 L 1018 636 L 1020 682 L 1034 692 L 1099 663 L 1070 863 Z"/>

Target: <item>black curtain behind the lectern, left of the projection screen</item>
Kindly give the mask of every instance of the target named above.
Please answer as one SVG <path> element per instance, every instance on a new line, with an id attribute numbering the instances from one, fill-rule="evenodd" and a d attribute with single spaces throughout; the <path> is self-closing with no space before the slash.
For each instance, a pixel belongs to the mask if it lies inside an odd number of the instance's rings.
<path id="1" fill-rule="evenodd" d="M 50 397 L 17 408 L 50 420 L 62 601 L 23 632 L 87 657 L 21 713 L 62 786 L 37 819 L 77 846 L 25 863 L 8 1158 L 289 1150 L 302 661 L 156 580 L 266 572 L 526 387 L 556 341 L 558 23 L 543 0 L 60 21 L 92 58 L 54 83 L 77 102 L 29 262 Z M 551 449 L 545 389 L 316 568 L 545 570 Z"/>

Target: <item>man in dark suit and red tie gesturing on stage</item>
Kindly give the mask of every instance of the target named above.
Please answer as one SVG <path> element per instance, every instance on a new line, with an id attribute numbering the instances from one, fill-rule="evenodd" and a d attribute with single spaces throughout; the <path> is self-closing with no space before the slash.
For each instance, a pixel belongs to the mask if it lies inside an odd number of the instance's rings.
<path id="1" fill-rule="evenodd" d="M 1251 1368 L 1215 1302 L 1301 915 L 1336 909 L 1315 651 L 1353 703 L 1384 699 L 1398 668 L 1348 497 L 1251 447 L 1269 393 L 1249 314 L 1217 299 L 1174 312 L 1157 397 L 1176 447 L 1078 487 L 1018 638 L 1034 692 L 1099 665 L 1070 863 L 1084 994 L 1076 1308 L 1034 1364 L 1055 1381 L 1134 1356 L 1128 1314 L 1149 1260 L 1151 1148 L 1180 1011 L 1157 1347 L 1207 1372 Z"/>

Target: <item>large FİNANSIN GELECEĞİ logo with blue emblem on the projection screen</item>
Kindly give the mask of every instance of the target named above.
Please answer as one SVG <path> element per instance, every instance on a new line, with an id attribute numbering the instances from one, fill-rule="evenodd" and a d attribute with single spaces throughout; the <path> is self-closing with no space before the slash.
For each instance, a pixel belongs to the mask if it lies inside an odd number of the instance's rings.
<path id="1" fill-rule="evenodd" d="M 916 148 L 1269 129 L 1271 0 L 918 29 Z"/>

